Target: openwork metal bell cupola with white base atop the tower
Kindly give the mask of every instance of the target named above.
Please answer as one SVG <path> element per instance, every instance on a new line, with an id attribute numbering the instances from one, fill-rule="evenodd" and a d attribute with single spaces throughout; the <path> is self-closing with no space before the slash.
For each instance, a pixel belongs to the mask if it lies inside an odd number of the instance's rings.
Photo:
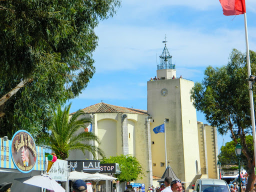
<path id="1" fill-rule="evenodd" d="M 176 77 L 176 69 L 175 64 L 172 64 L 172 56 L 170 55 L 167 47 L 166 47 L 166 36 L 164 35 L 164 48 L 160 57 L 160 64 L 157 64 L 157 78 L 160 79 L 170 79 Z"/>

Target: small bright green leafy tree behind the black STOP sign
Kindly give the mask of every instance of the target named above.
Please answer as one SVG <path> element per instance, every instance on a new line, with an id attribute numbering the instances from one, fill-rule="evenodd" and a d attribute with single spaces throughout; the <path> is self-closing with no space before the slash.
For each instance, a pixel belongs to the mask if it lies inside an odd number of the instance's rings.
<path id="1" fill-rule="evenodd" d="M 117 174 L 117 178 L 120 182 L 133 181 L 138 178 L 142 178 L 142 167 L 137 161 L 136 157 L 127 155 L 110 156 L 109 158 L 103 158 L 100 163 L 119 163 L 120 174 Z"/>

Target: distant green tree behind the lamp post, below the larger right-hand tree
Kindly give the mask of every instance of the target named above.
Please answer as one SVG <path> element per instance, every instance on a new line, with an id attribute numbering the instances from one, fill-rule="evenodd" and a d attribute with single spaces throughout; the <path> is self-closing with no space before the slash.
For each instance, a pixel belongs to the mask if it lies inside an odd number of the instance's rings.
<path id="1" fill-rule="evenodd" d="M 252 135 L 245 136 L 245 141 L 249 149 L 249 154 L 253 156 L 253 137 Z M 240 142 L 240 138 L 237 138 L 237 142 Z M 230 142 L 226 142 L 224 146 L 221 146 L 220 153 L 218 155 L 218 159 L 221 164 L 234 163 L 237 165 L 237 156 L 235 155 L 235 146 L 236 143 L 232 140 Z M 247 167 L 247 158 L 241 153 L 240 156 L 241 164 L 245 169 Z"/>

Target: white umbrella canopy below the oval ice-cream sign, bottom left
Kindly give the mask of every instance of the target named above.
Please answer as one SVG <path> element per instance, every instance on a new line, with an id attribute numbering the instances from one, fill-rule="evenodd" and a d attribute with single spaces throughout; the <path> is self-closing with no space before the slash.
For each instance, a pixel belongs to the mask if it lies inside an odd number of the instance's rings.
<path id="1" fill-rule="evenodd" d="M 65 189 L 62 188 L 62 186 L 60 186 L 54 179 L 45 174 L 15 179 L 26 184 L 54 190 L 54 192 L 65 192 Z"/>

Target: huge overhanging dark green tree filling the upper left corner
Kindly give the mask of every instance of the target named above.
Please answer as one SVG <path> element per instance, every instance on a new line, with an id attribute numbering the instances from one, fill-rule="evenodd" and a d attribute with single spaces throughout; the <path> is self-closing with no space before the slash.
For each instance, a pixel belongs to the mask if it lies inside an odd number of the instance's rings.
<path id="1" fill-rule="evenodd" d="M 76 97 L 95 72 L 94 28 L 120 0 L 0 0 L 0 135 L 38 141 L 50 108 Z"/>

